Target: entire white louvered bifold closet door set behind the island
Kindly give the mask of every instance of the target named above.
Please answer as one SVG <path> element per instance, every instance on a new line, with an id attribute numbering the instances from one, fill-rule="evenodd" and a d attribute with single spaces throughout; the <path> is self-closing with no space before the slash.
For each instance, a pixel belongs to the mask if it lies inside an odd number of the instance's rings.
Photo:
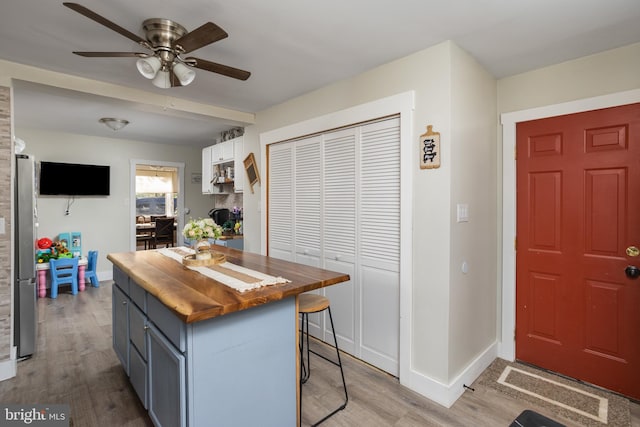
<path id="1" fill-rule="evenodd" d="M 350 275 L 329 297 L 340 348 L 393 375 L 400 337 L 400 128 L 391 118 L 269 147 L 269 255 Z M 331 337 L 325 313 L 310 332 Z"/>

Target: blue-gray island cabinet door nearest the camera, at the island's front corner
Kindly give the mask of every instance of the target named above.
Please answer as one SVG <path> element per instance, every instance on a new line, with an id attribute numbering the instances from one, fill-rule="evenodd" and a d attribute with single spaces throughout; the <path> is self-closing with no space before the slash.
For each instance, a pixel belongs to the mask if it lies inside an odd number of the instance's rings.
<path id="1" fill-rule="evenodd" d="M 147 339 L 149 416 L 156 427 L 186 426 L 185 357 L 153 323 Z"/>

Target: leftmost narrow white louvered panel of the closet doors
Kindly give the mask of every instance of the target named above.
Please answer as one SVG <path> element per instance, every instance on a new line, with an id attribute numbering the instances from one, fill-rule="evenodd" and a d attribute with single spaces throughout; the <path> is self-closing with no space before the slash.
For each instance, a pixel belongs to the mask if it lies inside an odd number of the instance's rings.
<path id="1" fill-rule="evenodd" d="M 269 256 L 294 260 L 292 232 L 293 144 L 269 147 L 269 212 L 267 239 Z"/>

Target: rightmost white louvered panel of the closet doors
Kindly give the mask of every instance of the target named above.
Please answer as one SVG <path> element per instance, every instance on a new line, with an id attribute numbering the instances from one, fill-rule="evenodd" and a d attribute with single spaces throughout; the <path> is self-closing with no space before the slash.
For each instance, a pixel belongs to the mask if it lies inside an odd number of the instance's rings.
<path id="1" fill-rule="evenodd" d="M 359 357 L 398 375 L 400 119 L 362 126 L 359 152 Z"/>

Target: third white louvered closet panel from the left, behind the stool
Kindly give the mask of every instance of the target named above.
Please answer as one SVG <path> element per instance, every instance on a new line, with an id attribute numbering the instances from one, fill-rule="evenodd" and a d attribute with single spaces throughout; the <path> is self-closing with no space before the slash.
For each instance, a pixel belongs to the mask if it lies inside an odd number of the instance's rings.
<path id="1" fill-rule="evenodd" d="M 349 274 L 351 280 L 325 288 L 331 300 L 338 346 L 356 354 L 356 139 L 357 128 L 325 135 L 324 138 L 324 268 Z M 324 339 L 332 343 L 331 323 L 325 316 Z"/>

